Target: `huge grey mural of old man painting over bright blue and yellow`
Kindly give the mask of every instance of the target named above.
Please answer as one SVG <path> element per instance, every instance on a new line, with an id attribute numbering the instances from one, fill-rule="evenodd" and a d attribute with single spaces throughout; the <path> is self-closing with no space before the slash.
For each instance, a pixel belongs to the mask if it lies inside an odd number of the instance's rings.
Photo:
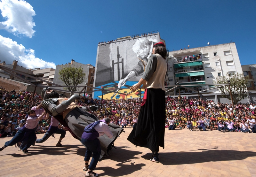
<path id="1" fill-rule="evenodd" d="M 112 43 L 104 43 L 98 46 L 95 85 L 97 88 L 108 89 L 104 91 L 103 98 L 116 99 L 125 98 L 123 94 L 129 93 L 129 88 L 138 82 L 144 72 L 142 61 L 148 62 L 152 54 L 153 45 L 160 41 L 159 33 L 119 40 Z M 140 58 L 140 59 L 139 59 Z M 142 60 L 142 61 L 141 61 Z M 127 88 L 127 89 L 117 89 Z M 143 97 L 144 90 L 137 90 L 127 98 Z M 101 98 L 102 91 L 95 91 L 94 98 Z"/>

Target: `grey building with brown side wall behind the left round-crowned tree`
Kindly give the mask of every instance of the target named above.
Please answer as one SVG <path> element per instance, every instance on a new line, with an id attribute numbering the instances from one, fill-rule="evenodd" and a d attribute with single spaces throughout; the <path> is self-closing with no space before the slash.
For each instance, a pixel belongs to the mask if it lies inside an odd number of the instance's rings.
<path id="1" fill-rule="evenodd" d="M 95 67 L 93 65 L 90 65 L 90 64 L 82 64 L 82 63 L 78 63 L 78 62 L 75 62 L 75 60 L 71 60 L 71 63 L 68 63 L 66 65 L 73 65 L 74 67 L 82 67 L 84 69 L 84 73 L 86 74 L 85 76 L 85 80 L 83 83 L 81 84 L 78 84 L 78 85 L 86 85 L 87 86 L 90 86 L 92 87 L 93 86 L 93 81 L 94 81 L 94 72 L 95 72 Z M 54 78 L 53 78 L 53 83 L 55 84 L 58 84 L 58 85 L 65 85 L 65 83 L 59 79 L 60 75 L 59 75 L 59 71 L 60 69 L 65 66 L 65 65 L 57 65 L 56 66 L 56 71 L 55 71 L 55 75 L 54 75 Z M 63 88 L 58 88 L 58 89 L 61 89 L 63 90 L 63 92 L 66 92 L 66 93 L 70 93 L 69 91 L 67 90 L 64 90 Z M 81 91 L 83 88 L 81 87 L 77 87 L 77 92 Z M 86 92 L 88 92 L 88 94 L 92 95 L 92 88 L 86 88 L 85 90 Z"/>

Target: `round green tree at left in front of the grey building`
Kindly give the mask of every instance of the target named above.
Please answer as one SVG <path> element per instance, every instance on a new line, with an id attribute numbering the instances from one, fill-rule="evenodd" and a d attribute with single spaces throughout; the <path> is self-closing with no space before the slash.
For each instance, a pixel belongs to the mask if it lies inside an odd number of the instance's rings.
<path id="1" fill-rule="evenodd" d="M 67 86 L 76 86 L 83 83 L 85 75 L 84 69 L 81 66 L 74 67 L 72 65 L 64 65 L 59 71 L 59 79 L 61 79 Z M 76 91 L 76 87 L 64 87 L 64 89 L 71 92 Z"/>

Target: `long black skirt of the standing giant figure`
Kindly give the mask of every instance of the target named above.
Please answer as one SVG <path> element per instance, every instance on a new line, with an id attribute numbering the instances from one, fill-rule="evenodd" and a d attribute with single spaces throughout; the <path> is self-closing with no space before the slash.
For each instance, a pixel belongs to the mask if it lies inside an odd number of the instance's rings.
<path id="1" fill-rule="evenodd" d="M 161 88 L 148 88 L 146 103 L 141 106 L 137 125 L 127 140 L 152 152 L 164 148 L 165 92 Z"/>

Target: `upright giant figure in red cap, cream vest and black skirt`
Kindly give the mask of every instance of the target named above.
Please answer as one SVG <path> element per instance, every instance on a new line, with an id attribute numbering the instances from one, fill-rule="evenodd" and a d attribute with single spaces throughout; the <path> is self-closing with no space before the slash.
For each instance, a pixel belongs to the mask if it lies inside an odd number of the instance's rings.
<path id="1" fill-rule="evenodd" d="M 137 125 L 127 140 L 150 149 L 153 152 L 152 162 L 159 162 L 159 146 L 164 148 L 166 54 L 164 43 L 156 43 L 143 76 L 130 88 L 134 92 L 143 84 L 145 92 Z"/>

